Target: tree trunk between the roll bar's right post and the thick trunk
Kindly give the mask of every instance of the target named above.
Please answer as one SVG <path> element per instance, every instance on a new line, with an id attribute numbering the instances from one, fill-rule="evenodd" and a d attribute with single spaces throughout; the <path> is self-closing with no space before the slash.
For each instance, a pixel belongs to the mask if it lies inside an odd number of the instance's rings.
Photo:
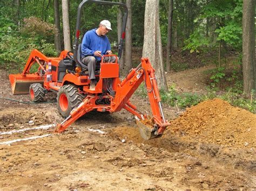
<path id="1" fill-rule="evenodd" d="M 125 35 L 125 69 L 126 72 L 132 68 L 132 11 L 131 11 L 131 0 L 126 0 L 128 8 L 128 18 L 126 24 L 126 35 Z"/>

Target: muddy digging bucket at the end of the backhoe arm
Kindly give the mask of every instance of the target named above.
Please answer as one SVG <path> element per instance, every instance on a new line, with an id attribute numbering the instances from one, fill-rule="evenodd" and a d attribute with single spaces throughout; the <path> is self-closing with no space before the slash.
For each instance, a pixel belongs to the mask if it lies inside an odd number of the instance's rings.
<path id="1" fill-rule="evenodd" d="M 154 138 L 159 138 L 162 136 L 157 134 L 157 129 L 154 128 L 152 123 L 149 123 L 149 121 L 143 120 L 143 121 L 136 121 L 140 136 L 142 136 L 145 140 L 150 140 Z"/>

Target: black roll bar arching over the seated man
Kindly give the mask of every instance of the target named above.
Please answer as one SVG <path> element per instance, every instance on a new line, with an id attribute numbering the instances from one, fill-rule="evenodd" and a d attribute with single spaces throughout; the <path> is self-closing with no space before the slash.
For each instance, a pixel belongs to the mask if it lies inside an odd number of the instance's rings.
<path id="1" fill-rule="evenodd" d="M 77 58 L 79 36 L 80 36 L 80 18 L 81 18 L 81 10 L 86 3 L 97 3 L 97 4 L 103 4 L 103 5 L 117 5 L 117 6 L 121 6 L 125 9 L 125 13 L 124 13 L 124 17 L 123 17 L 122 33 L 121 33 L 122 35 L 120 37 L 120 41 L 118 44 L 118 58 L 120 59 L 122 56 L 122 52 L 123 52 L 123 41 L 125 38 L 125 28 L 126 28 L 126 22 L 127 22 L 127 17 L 128 17 L 128 9 L 127 9 L 126 4 L 118 3 L 118 2 L 100 1 L 100 0 L 84 0 L 79 4 L 78 10 L 77 10 L 76 36 L 75 36 L 75 42 L 73 44 L 73 53 L 74 53 L 74 59 L 75 59 L 76 63 L 80 66 L 80 63 L 78 62 L 78 58 Z M 80 67 L 82 68 L 82 66 L 80 66 Z"/>

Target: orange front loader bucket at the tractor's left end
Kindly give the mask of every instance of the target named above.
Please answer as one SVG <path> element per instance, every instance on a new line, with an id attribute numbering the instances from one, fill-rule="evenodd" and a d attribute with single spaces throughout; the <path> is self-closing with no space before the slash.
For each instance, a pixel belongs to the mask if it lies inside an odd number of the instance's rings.
<path id="1" fill-rule="evenodd" d="M 11 83 L 12 94 L 28 94 L 29 87 L 32 83 L 44 83 L 43 77 L 37 74 L 10 74 L 9 80 Z"/>

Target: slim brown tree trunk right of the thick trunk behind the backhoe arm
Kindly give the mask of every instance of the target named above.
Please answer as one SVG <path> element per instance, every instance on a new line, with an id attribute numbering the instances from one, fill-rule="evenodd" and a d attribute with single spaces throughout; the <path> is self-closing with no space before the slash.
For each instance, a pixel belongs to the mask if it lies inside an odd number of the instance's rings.
<path id="1" fill-rule="evenodd" d="M 170 68 L 171 68 L 171 52 L 172 52 L 172 10 L 173 10 L 173 0 L 169 0 L 168 29 L 167 29 L 167 46 L 166 46 L 166 71 L 167 71 L 167 72 L 170 72 Z"/>

